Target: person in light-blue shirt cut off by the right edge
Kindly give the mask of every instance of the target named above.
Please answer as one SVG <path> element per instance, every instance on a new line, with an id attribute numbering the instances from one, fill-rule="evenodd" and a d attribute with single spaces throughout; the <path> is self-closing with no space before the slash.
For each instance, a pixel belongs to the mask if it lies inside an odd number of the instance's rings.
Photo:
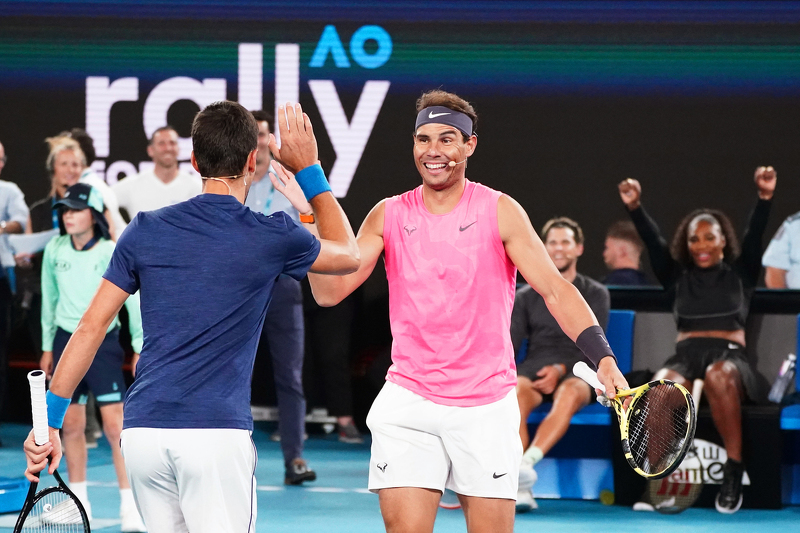
<path id="1" fill-rule="evenodd" d="M 761 260 L 770 289 L 800 289 L 800 213 L 783 221 Z"/>

